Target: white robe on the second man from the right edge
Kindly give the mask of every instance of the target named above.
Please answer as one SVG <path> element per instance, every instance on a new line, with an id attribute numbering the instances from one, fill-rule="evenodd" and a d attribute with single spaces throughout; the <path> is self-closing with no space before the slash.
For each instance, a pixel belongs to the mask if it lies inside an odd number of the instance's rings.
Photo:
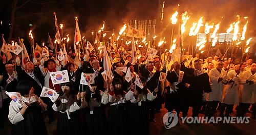
<path id="1" fill-rule="evenodd" d="M 234 70 L 231 70 L 228 72 L 227 77 L 228 80 L 233 79 L 234 77 L 236 77 L 237 73 Z M 238 75 L 239 78 L 239 75 Z M 240 82 L 234 82 L 233 83 L 228 83 L 228 85 L 224 86 L 224 93 L 223 93 L 223 97 L 221 102 L 222 103 L 226 103 L 226 104 L 236 104 L 239 105 L 239 97 L 238 97 L 238 91 L 239 91 L 239 86 L 240 86 Z M 231 88 L 232 86 L 232 88 Z"/>

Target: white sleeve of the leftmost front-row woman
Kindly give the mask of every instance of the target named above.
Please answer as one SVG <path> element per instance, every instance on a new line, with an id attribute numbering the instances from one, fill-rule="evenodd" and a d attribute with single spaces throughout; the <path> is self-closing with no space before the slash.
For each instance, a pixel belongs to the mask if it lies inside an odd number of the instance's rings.
<path id="1" fill-rule="evenodd" d="M 14 101 L 10 102 L 8 118 L 12 124 L 17 124 L 24 120 L 22 114 L 20 114 L 18 105 Z"/>

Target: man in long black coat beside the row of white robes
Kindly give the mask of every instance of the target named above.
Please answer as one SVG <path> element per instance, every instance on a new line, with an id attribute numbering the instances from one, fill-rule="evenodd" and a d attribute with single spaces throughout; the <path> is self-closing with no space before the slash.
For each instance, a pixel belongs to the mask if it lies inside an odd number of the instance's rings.
<path id="1" fill-rule="evenodd" d="M 189 82 L 190 84 L 190 105 L 193 107 L 193 117 L 199 115 L 201 108 L 201 102 L 203 98 L 203 93 L 211 92 L 209 76 L 207 72 L 202 69 L 202 60 L 195 60 L 195 69 L 189 69 L 190 74 Z"/>

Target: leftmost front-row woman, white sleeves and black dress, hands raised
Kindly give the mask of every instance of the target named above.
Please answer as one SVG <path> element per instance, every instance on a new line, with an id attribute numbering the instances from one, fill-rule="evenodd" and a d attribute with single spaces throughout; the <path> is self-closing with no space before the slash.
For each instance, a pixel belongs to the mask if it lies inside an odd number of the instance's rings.
<path id="1" fill-rule="evenodd" d="M 34 94 L 32 84 L 22 80 L 17 85 L 15 95 L 10 102 L 8 118 L 13 124 L 12 134 L 47 134 L 41 111 L 46 111 L 47 105 Z M 20 101 L 20 102 L 18 102 Z"/>

